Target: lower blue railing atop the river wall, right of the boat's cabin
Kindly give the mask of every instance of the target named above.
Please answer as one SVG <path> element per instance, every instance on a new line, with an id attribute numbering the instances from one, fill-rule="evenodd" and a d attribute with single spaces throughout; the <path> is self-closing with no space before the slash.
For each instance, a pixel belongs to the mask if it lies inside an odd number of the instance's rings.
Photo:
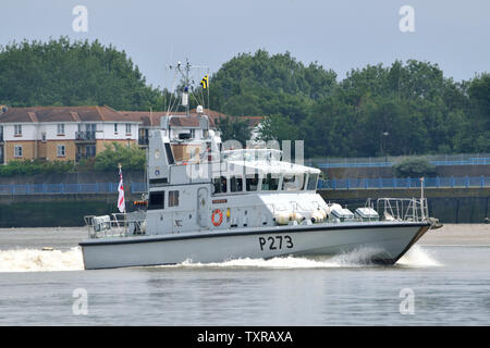
<path id="1" fill-rule="evenodd" d="M 391 178 L 333 178 L 318 181 L 323 189 L 417 188 L 420 179 L 414 177 Z M 424 187 L 490 187 L 490 176 L 426 177 Z"/>

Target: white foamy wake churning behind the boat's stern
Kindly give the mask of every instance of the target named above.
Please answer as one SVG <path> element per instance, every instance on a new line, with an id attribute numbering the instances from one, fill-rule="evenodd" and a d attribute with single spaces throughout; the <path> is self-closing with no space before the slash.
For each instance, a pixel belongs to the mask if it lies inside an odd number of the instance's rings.
<path id="1" fill-rule="evenodd" d="M 79 247 L 66 251 L 0 250 L 0 272 L 78 271 L 84 269 Z"/>

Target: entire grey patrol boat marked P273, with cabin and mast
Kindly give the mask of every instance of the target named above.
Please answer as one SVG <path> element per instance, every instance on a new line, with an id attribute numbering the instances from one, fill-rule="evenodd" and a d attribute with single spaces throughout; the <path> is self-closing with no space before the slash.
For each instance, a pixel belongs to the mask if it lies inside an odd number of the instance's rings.
<path id="1" fill-rule="evenodd" d="M 368 262 L 393 264 L 438 227 L 424 197 L 378 198 L 354 212 L 327 203 L 317 194 L 320 170 L 284 161 L 278 149 L 226 148 L 201 107 L 193 134 L 173 132 L 171 120 L 191 117 L 186 111 L 162 116 L 149 135 L 146 209 L 85 216 L 85 269 L 359 249 Z"/>

